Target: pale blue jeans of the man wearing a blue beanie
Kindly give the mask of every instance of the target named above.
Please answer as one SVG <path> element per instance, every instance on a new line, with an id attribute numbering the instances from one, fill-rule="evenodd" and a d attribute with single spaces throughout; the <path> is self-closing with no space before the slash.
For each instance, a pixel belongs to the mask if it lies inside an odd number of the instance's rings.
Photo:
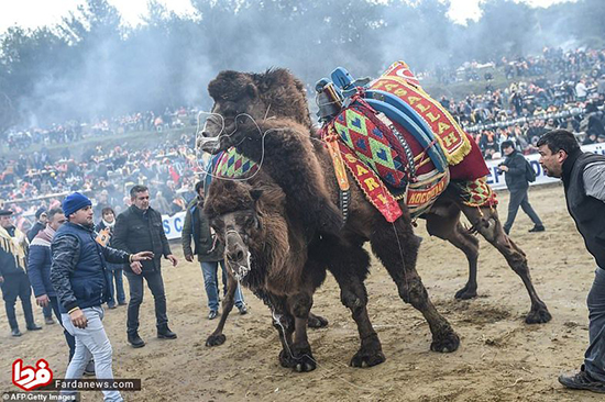
<path id="1" fill-rule="evenodd" d="M 112 380 L 111 356 L 113 350 L 103 328 L 103 309 L 95 306 L 82 309 L 88 319 L 86 328 L 76 328 L 69 314 L 62 314 L 63 326 L 76 338 L 76 353 L 67 367 L 66 379 L 80 379 L 90 358 L 95 358 L 95 376 L 101 380 Z M 76 391 L 62 391 L 62 394 L 74 394 Z M 119 391 L 102 391 L 106 402 L 123 402 Z"/>

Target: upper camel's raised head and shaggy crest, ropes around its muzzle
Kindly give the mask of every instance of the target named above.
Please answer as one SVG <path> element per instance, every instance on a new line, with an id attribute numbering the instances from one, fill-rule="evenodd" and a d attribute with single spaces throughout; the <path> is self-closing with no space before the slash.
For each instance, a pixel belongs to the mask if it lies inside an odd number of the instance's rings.
<path id="1" fill-rule="evenodd" d="M 244 139 L 246 124 L 287 118 L 311 126 L 305 86 L 283 68 L 263 74 L 221 71 L 208 85 L 215 101 L 198 146 L 217 154 Z"/>

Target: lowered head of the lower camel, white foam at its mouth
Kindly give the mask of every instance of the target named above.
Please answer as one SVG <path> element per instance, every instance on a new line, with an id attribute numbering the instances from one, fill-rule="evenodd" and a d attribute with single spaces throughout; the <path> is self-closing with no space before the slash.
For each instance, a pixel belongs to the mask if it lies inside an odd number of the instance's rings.
<path id="1" fill-rule="evenodd" d="M 257 211 L 262 192 L 242 182 L 217 180 L 205 201 L 204 213 L 224 245 L 227 266 L 239 281 L 253 269 L 253 249 L 262 244 Z"/>

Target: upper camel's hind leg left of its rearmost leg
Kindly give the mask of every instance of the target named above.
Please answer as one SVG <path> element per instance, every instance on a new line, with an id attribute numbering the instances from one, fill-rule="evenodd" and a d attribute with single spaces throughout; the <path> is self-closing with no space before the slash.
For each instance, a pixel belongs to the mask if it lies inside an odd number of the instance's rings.
<path id="1" fill-rule="evenodd" d="M 435 212 L 433 212 L 435 211 Z M 455 292 L 455 299 L 472 299 L 477 295 L 479 239 L 460 223 L 460 209 L 454 205 L 439 206 L 426 215 L 427 232 L 448 241 L 462 250 L 469 261 L 469 280 Z"/>

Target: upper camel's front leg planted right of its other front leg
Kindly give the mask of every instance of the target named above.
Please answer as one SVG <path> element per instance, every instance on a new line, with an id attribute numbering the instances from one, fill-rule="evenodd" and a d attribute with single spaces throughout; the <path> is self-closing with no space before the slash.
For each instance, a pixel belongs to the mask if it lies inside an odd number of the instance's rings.
<path id="1" fill-rule="evenodd" d="M 399 297 L 422 313 L 432 333 L 431 350 L 454 351 L 460 337 L 450 323 L 437 311 L 416 271 L 419 241 L 414 235 L 406 213 L 394 223 L 376 219 L 370 237 L 374 254 L 381 259 L 397 284 Z"/>

